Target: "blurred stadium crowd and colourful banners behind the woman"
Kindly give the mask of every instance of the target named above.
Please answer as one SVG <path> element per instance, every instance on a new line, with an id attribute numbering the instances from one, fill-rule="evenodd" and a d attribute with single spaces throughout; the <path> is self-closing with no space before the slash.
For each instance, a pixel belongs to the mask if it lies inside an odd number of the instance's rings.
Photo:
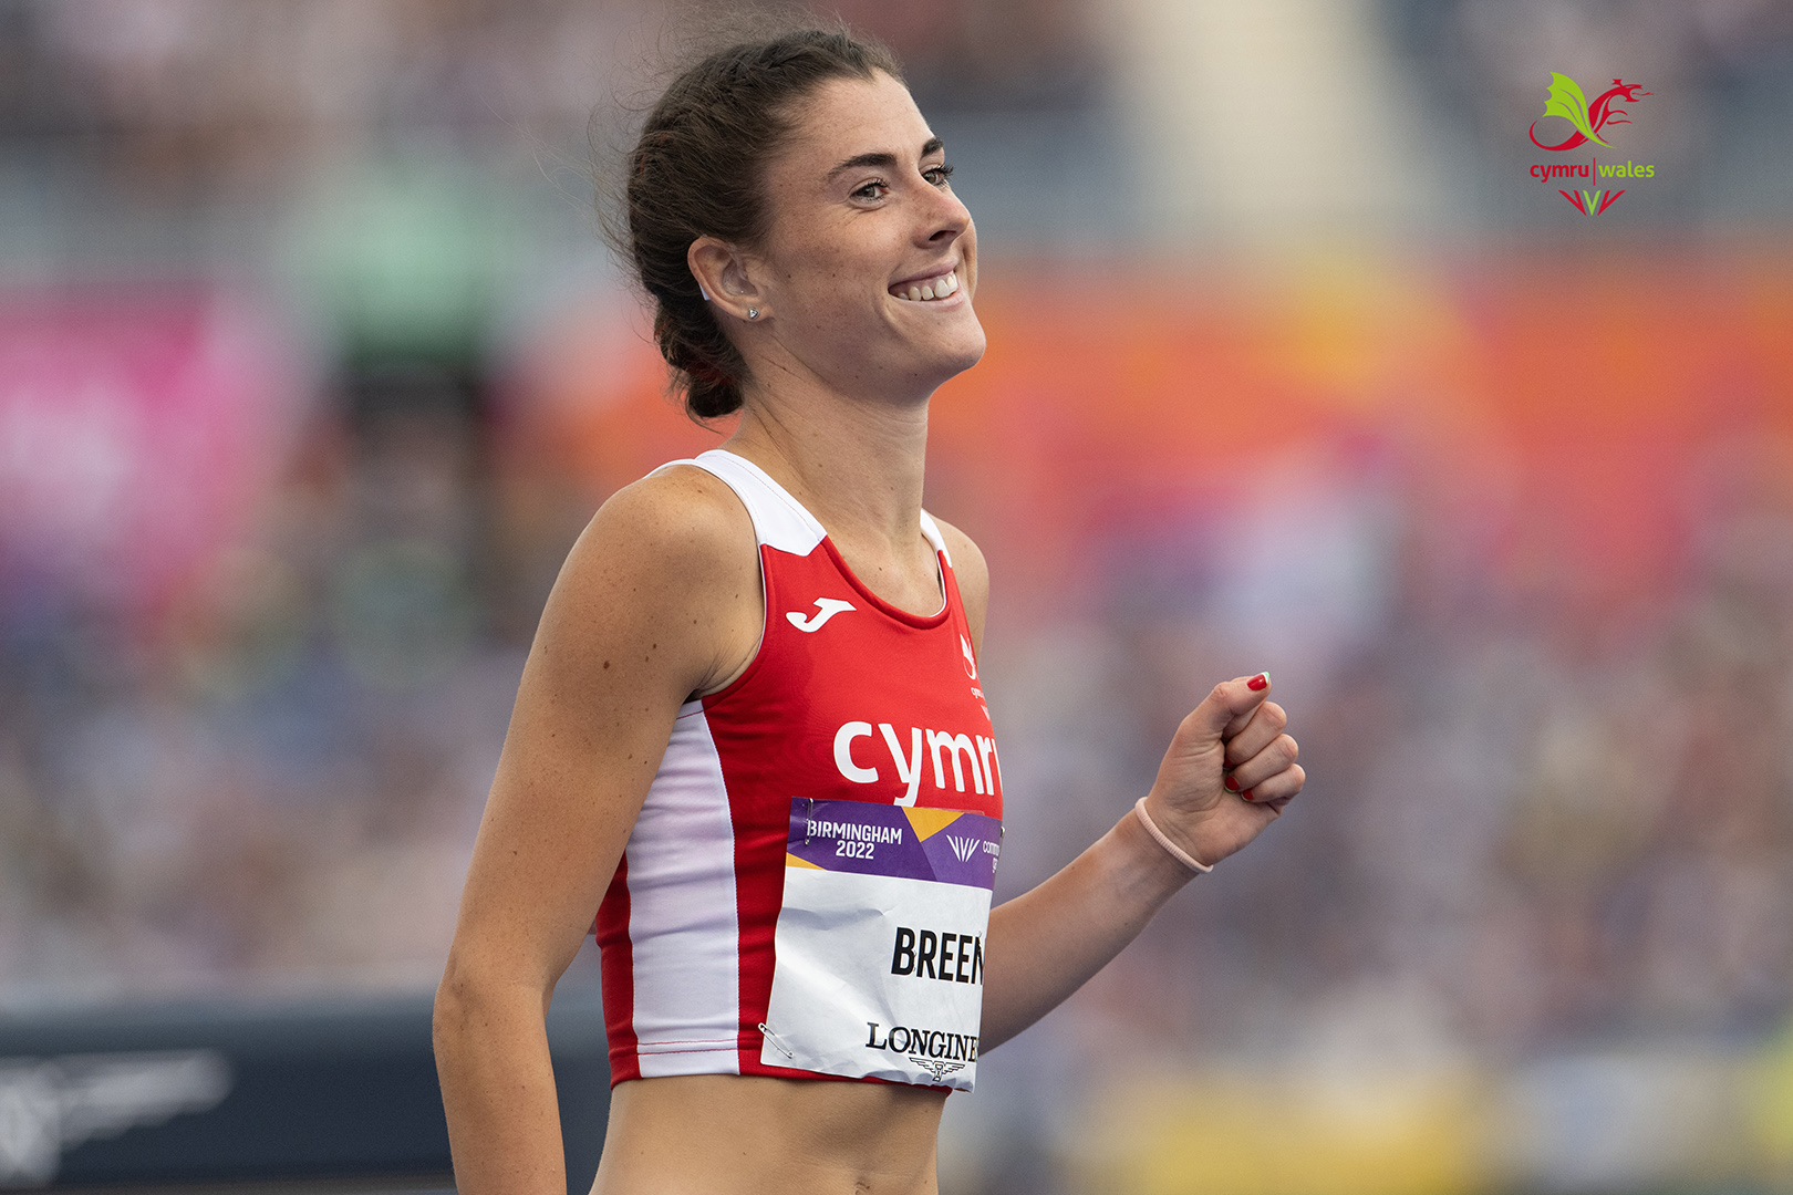
<path id="1" fill-rule="evenodd" d="M 828 11 L 979 220 L 999 896 L 1216 679 L 1311 778 L 943 1190 L 1793 1188 L 1793 5 Z M 719 437 L 590 172 L 706 13 L 0 0 L 0 1010 L 434 985 L 567 546 Z M 1598 217 L 1551 72 L 1650 91 Z"/>

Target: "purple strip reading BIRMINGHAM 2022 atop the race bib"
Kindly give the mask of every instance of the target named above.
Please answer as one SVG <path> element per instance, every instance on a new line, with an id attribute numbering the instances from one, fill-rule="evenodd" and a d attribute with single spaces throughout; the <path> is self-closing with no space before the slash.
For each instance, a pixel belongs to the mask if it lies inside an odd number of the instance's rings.
<path id="1" fill-rule="evenodd" d="M 793 797 L 785 865 L 993 889 L 1000 849 L 984 813 Z"/>

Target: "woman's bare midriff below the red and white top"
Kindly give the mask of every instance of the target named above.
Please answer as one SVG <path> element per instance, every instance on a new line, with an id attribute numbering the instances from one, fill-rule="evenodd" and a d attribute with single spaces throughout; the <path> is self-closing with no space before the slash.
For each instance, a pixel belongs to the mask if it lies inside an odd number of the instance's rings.
<path id="1" fill-rule="evenodd" d="M 637 1079 L 610 1093 L 592 1195 L 936 1195 L 945 1102 L 905 1084 Z"/>

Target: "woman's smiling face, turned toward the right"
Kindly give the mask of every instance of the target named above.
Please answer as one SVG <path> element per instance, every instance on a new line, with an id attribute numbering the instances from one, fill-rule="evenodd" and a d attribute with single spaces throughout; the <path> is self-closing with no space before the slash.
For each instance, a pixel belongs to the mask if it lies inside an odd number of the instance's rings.
<path id="1" fill-rule="evenodd" d="M 977 231 L 948 174 L 889 75 L 818 88 L 767 163 L 769 233 L 748 254 L 767 349 L 859 398 L 925 400 L 977 364 Z"/>

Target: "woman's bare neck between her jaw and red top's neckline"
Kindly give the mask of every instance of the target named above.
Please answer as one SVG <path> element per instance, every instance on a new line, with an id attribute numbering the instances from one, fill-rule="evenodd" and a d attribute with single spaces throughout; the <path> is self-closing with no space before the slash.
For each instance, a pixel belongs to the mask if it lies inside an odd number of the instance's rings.
<path id="1" fill-rule="evenodd" d="M 724 444 L 766 469 L 836 541 L 911 548 L 922 521 L 927 398 L 855 400 L 819 385 L 758 387 Z"/>

